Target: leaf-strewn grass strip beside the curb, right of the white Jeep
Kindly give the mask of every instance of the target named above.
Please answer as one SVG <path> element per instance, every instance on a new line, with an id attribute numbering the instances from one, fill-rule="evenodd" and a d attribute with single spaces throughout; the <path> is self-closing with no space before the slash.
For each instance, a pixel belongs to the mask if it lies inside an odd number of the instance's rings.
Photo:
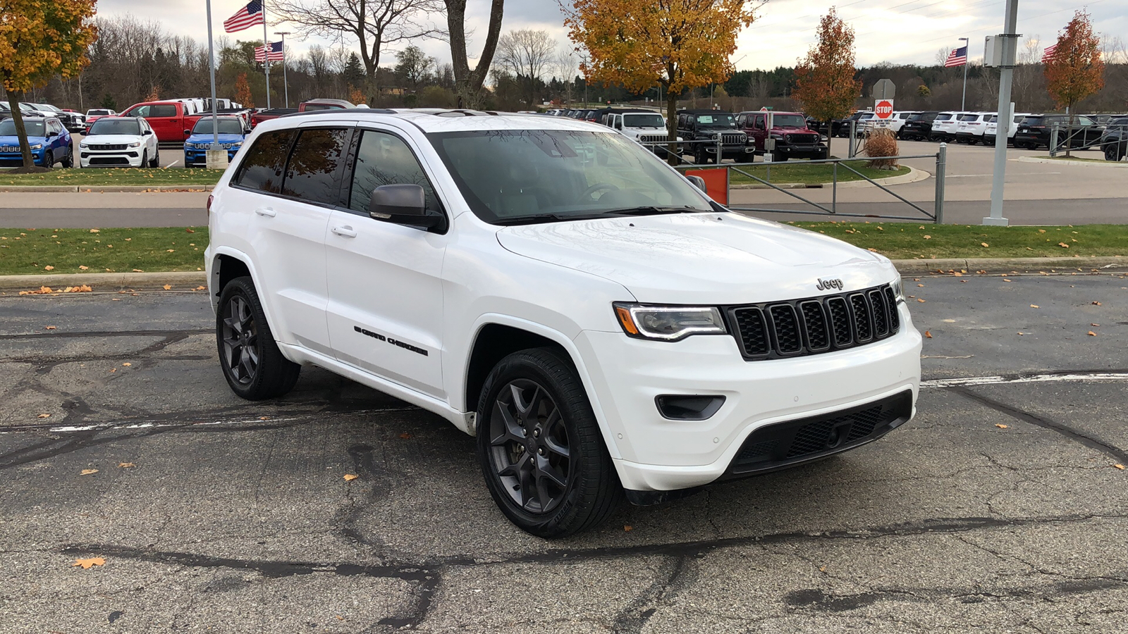
<path id="1" fill-rule="evenodd" d="M 788 222 L 892 259 L 1128 256 L 1128 226 L 979 227 L 907 222 Z M 985 246 L 986 245 L 986 246 Z M 1065 246 L 1063 246 L 1065 245 Z"/>

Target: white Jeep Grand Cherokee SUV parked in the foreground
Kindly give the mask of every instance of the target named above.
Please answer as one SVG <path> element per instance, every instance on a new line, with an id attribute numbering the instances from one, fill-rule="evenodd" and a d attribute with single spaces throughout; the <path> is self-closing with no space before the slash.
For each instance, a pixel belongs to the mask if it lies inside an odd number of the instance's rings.
<path id="1" fill-rule="evenodd" d="M 713 203 L 566 117 L 333 111 L 255 129 L 209 200 L 231 389 L 326 368 L 477 435 L 499 508 L 559 537 L 908 421 L 889 259 Z"/>

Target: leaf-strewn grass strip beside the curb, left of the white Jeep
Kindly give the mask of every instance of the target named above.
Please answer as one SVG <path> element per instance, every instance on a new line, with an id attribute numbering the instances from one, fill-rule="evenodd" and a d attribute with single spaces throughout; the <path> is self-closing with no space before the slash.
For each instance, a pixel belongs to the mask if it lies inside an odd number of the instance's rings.
<path id="1" fill-rule="evenodd" d="M 196 271 L 206 227 L 0 229 L 0 275 Z"/>

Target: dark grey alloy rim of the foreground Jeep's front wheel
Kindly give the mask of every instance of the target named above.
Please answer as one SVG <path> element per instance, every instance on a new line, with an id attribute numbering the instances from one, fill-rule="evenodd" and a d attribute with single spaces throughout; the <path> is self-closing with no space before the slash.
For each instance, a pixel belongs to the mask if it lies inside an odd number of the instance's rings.
<path id="1" fill-rule="evenodd" d="M 490 461 L 501 487 L 522 511 L 555 510 L 567 493 L 572 450 L 561 408 L 529 379 L 497 393 L 490 416 Z"/>

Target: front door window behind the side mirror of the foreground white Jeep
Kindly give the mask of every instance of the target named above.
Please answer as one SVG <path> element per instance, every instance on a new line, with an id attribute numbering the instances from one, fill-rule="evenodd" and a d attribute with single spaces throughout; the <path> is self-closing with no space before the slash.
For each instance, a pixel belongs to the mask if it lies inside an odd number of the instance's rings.
<path id="1" fill-rule="evenodd" d="M 368 213 L 368 201 L 372 190 L 380 185 L 414 184 L 423 187 L 426 208 L 441 211 L 434 187 L 428 180 L 423 168 L 402 139 L 385 132 L 364 131 L 356 151 L 356 169 L 353 174 L 349 209 Z"/>

